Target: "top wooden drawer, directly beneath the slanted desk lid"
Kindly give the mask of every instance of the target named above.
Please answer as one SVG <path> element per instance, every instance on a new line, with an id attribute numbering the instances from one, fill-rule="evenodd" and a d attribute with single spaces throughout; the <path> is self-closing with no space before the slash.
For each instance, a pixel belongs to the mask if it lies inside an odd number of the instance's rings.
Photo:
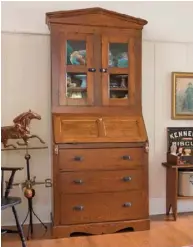
<path id="1" fill-rule="evenodd" d="M 128 169 L 143 164 L 143 148 L 62 149 L 59 169 L 63 171 Z"/>

